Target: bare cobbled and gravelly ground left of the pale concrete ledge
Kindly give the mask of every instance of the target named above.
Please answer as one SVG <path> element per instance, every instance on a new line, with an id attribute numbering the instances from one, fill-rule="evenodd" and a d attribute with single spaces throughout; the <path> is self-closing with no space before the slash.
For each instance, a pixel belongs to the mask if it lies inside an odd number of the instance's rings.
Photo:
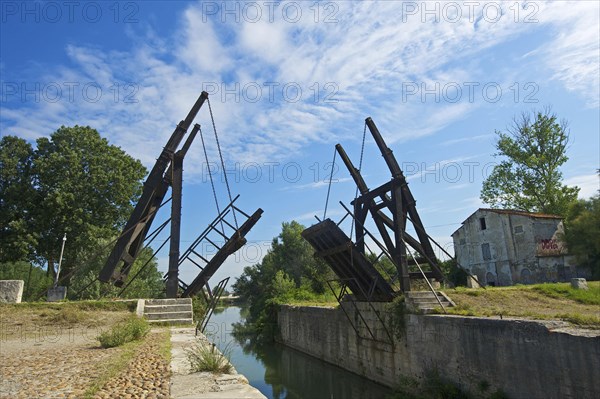
<path id="1" fill-rule="evenodd" d="M 122 375 L 96 398 L 168 398 L 169 365 L 156 352 L 166 331 L 149 334 Z M 81 398 L 103 364 L 122 348 L 102 349 L 97 331 L 53 330 L 51 334 L 0 339 L 0 398 Z"/>

